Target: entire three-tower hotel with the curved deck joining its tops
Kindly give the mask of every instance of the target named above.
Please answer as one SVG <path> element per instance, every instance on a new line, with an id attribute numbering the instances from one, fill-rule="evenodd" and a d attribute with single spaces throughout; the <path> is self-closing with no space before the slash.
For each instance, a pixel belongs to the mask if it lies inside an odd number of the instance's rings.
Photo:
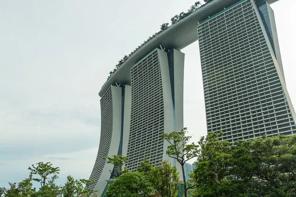
<path id="1" fill-rule="evenodd" d="M 274 14 L 277 0 L 212 0 L 149 39 L 111 75 L 99 95 L 101 139 L 90 179 L 102 195 L 104 157 L 123 154 L 134 171 L 146 157 L 168 160 L 161 134 L 183 128 L 184 53 L 199 40 L 208 132 L 233 142 L 296 133 Z"/>

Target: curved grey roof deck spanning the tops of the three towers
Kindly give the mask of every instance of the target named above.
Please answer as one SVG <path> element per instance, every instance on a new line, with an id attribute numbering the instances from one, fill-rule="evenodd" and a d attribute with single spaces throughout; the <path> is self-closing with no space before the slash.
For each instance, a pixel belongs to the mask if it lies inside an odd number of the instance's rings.
<path id="1" fill-rule="evenodd" d="M 176 24 L 170 26 L 167 30 L 153 36 L 153 38 L 140 46 L 139 49 L 129 56 L 129 58 L 115 71 L 115 73 L 111 75 L 99 92 L 99 96 L 103 97 L 112 84 L 130 84 L 130 69 L 132 66 L 134 66 L 156 47 L 159 48 L 161 45 L 161 47 L 165 49 L 175 48 L 177 50 L 182 50 L 186 46 L 198 40 L 198 23 L 239 1 L 240 0 L 213 0 L 201 6 L 184 19 L 178 21 Z M 271 4 L 278 0 L 266 1 Z"/>

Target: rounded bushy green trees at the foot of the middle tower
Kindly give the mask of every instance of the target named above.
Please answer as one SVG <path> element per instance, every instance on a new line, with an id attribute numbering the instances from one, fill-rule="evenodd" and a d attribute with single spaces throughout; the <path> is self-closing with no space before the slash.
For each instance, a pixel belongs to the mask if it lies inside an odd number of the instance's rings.
<path id="1" fill-rule="evenodd" d="M 136 172 L 127 172 L 108 187 L 107 197 L 176 197 L 180 183 L 176 167 L 163 162 L 153 167 L 144 160 Z"/>

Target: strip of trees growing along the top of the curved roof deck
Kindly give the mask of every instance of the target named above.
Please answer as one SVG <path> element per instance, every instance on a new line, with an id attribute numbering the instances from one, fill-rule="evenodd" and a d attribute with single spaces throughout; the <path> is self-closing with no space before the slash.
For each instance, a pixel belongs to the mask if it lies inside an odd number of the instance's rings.
<path id="1" fill-rule="evenodd" d="M 208 2 L 211 2 L 213 0 L 203 0 L 204 1 L 204 4 L 201 3 L 200 0 L 196 1 L 193 5 L 190 6 L 190 8 L 187 10 L 187 12 L 181 12 L 180 14 L 176 14 L 175 16 L 173 16 L 171 18 L 171 25 L 169 23 L 163 23 L 161 26 L 160 26 L 160 31 L 157 32 L 157 33 L 154 33 L 152 36 L 149 36 L 149 38 L 147 40 L 145 40 L 140 46 L 138 46 L 135 50 L 133 50 L 130 54 L 128 55 L 125 55 L 121 60 L 118 61 L 118 64 L 115 65 L 115 68 L 113 70 L 111 70 L 109 72 L 109 76 L 107 78 L 107 81 L 108 79 L 112 76 L 113 73 L 116 72 L 116 70 L 121 66 L 123 65 L 123 63 L 125 63 L 125 61 L 128 60 L 128 58 L 133 54 L 135 53 L 140 47 L 142 47 L 143 45 L 145 45 L 147 42 L 149 42 L 155 35 L 158 35 L 164 31 L 166 31 L 170 26 L 178 23 L 179 21 L 181 21 L 182 19 L 184 19 L 185 17 L 189 16 L 191 13 L 193 13 L 194 11 L 196 11 L 198 8 L 202 7 L 203 5 L 207 4 Z M 106 81 L 106 82 L 107 82 Z M 105 83 L 106 83 L 105 82 Z M 103 86 L 105 85 L 105 83 L 103 84 Z M 102 87 L 103 87 L 102 86 Z"/>

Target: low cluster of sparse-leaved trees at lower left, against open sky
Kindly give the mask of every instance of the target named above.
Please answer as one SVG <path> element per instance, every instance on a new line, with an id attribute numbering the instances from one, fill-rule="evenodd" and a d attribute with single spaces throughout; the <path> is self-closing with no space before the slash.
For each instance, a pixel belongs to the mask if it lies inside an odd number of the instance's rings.
<path id="1" fill-rule="evenodd" d="M 67 177 L 67 182 L 63 187 L 56 185 L 59 167 L 52 167 L 52 164 L 39 162 L 36 166 L 29 167 L 30 176 L 20 183 L 9 183 L 10 189 L 0 188 L 0 194 L 5 197 L 96 197 L 96 192 L 89 190 L 89 186 L 95 183 L 95 180 L 74 180 L 72 176 Z M 39 175 L 40 178 L 33 178 L 33 175 Z M 51 175 L 49 177 L 49 175 Z M 48 180 L 46 182 L 46 180 Z M 41 187 L 36 191 L 32 181 L 37 181 Z M 0 197 L 1 197 L 0 195 Z"/>

